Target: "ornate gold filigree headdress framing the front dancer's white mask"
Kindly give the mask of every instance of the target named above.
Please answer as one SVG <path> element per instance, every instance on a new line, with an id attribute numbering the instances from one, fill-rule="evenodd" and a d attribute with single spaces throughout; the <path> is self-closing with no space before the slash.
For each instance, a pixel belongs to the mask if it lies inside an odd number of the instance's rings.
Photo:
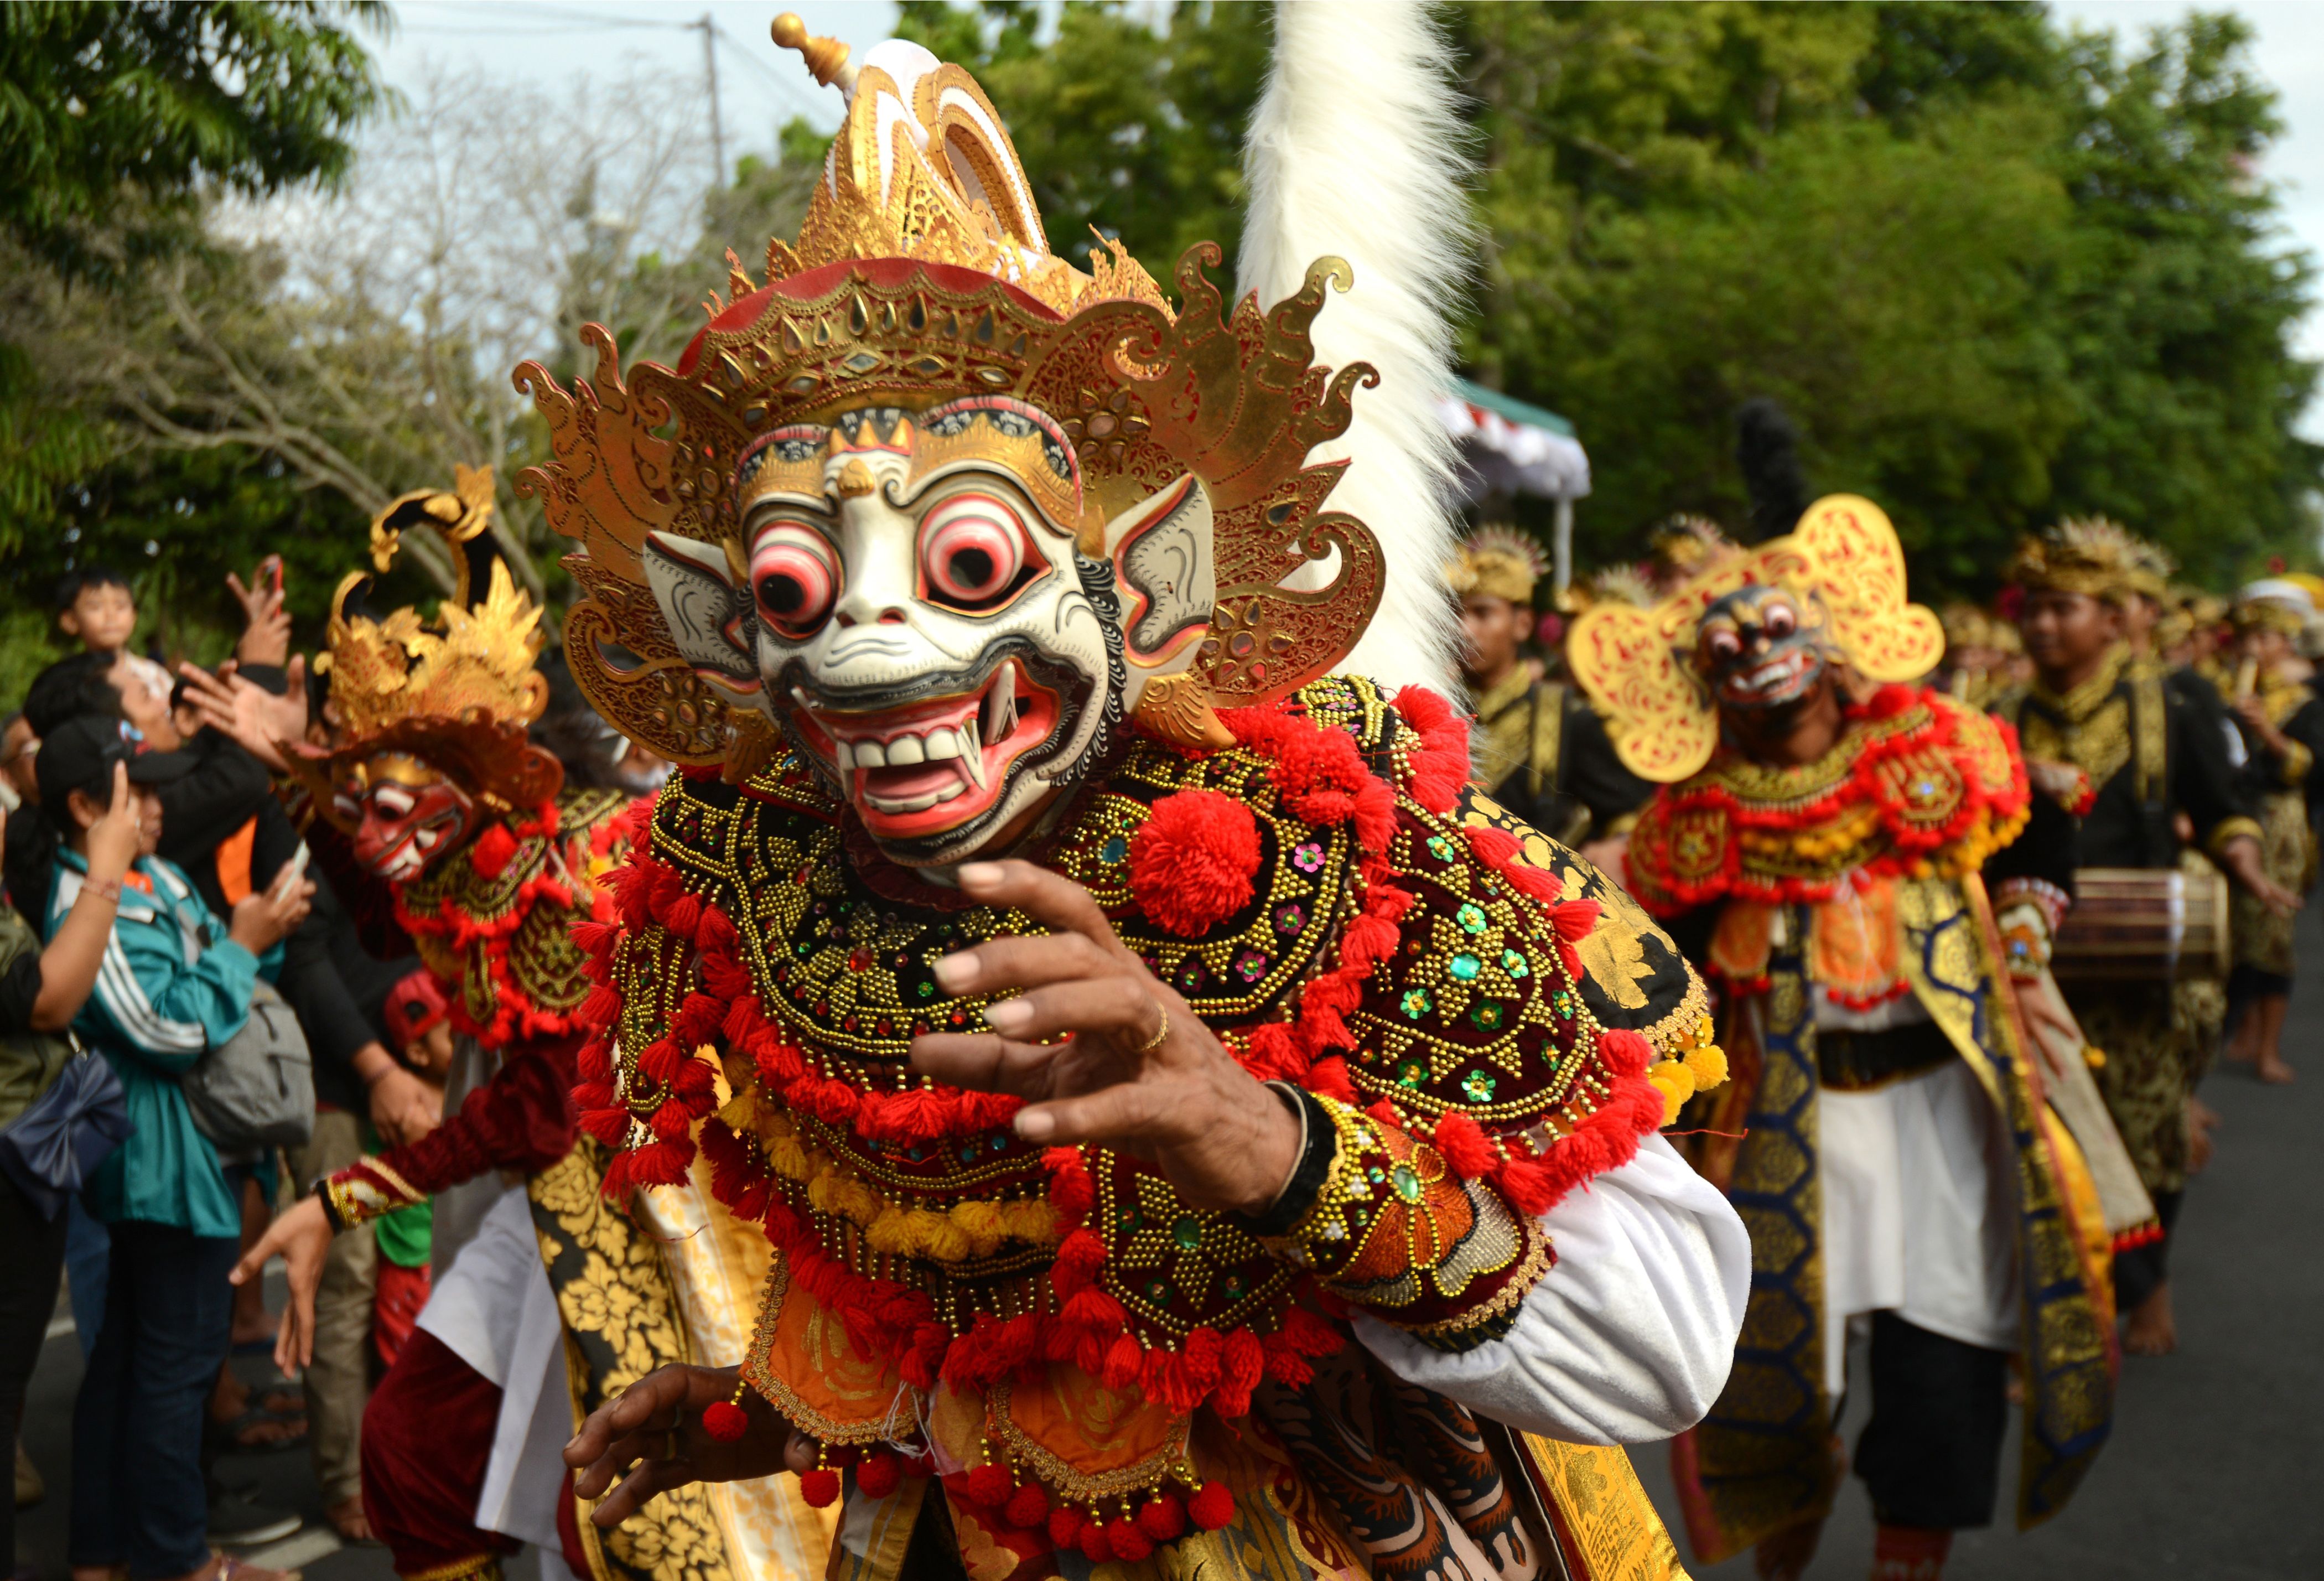
<path id="1" fill-rule="evenodd" d="M 1322 509 L 1346 463 L 1306 465 L 1376 379 L 1362 363 L 1318 367 L 1308 337 L 1325 286 L 1353 284 L 1348 265 L 1325 258 L 1274 309 L 1246 298 L 1227 312 L 1204 274 L 1220 253 L 1199 244 L 1178 263 L 1174 314 L 1118 242 L 1090 249 L 1090 272 L 1048 251 L 1023 163 L 964 70 L 897 42 L 853 65 L 788 16 L 776 40 L 848 91 L 848 116 L 797 242 L 767 246 L 769 281 L 734 270 L 737 298 L 711 300 L 674 370 L 625 372 L 595 323 L 581 339 L 597 367 L 572 388 L 539 363 L 516 370 L 555 456 L 518 491 L 574 539 L 565 563 L 586 598 L 565 649 L 588 700 L 676 763 L 723 763 L 730 779 L 762 763 L 776 725 L 737 630 L 746 611 L 723 623 L 741 663 L 706 663 L 665 621 L 648 542 L 693 539 L 697 563 L 746 588 L 737 465 L 755 439 L 962 395 L 1023 400 L 1071 444 L 1078 549 L 1113 560 L 1125 704 L 1153 698 L 1141 721 L 1215 744 L 1213 709 L 1327 674 L 1385 586 L 1371 530 Z M 1285 586 L 1318 563 L 1329 577 L 1311 579 L 1327 586 Z M 1199 695 L 1148 691 L 1178 674 Z"/>

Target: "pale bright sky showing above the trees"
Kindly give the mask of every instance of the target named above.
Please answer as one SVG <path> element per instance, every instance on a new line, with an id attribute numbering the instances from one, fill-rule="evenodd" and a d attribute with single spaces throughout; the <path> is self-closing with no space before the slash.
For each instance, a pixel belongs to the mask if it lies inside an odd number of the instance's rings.
<path id="1" fill-rule="evenodd" d="M 428 60 L 507 72 L 541 86 L 581 77 L 614 77 L 627 58 L 669 72 L 672 91 L 697 93 L 709 116 L 700 21 L 716 30 L 718 121 L 727 158 L 774 146 L 776 128 L 795 114 L 830 128 L 839 93 L 816 79 L 788 49 L 776 49 L 767 23 L 779 0 L 402 0 L 397 30 L 386 44 L 388 81 L 421 81 Z M 855 46 L 858 56 L 888 37 L 888 0 L 795 0 L 811 33 Z M 2113 28 L 2136 40 L 2145 28 L 2185 16 L 2185 0 L 2057 0 L 2066 21 Z M 2233 0 L 2203 9 L 2233 9 L 2259 26 L 2257 60 L 2282 91 L 2284 137 L 2264 170 L 2284 188 L 2287 244 L 2324 260 L 2324 5 L 2315 0 Z M 2310 314 L 2301 351 L 2324 358 L 2324 314 Z M 2310 407 L 2305 428 L 2324 439 L 2324 405 Z"/>

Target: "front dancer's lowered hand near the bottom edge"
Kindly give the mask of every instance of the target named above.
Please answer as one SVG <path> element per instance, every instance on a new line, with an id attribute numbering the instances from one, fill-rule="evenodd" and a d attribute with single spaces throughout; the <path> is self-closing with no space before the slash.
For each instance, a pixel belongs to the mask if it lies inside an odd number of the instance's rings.
<path id="1" fill-rule="evenodd" d="M 565 1444 L 574 1493 L 583 1500 L 604 1495 L 590 1521 L 611 1530 L 655 1493 L 693 1481 L 813 1469 L 823 1446 L 783 1421 L 753 1388 L 741 1390 L 751 1425 L 739 1439 L 720 1444 L 702 1432 L 702 1411 L 732 1400 L 739 1381 L 741 1367 L 655 1367 L 590 1411 L 581 1432 Z"/>

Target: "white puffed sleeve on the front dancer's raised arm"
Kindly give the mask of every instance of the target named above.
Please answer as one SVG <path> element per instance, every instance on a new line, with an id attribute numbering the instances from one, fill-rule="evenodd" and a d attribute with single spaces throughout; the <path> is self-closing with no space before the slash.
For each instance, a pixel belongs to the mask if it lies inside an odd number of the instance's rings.
<path id="1" fill-rule="evenodd" d="M 1501 1339 L 1446 1355 L 1357 1316 L 1397 1376 L 1478 1416 L 1569 1444 L 1648 1444 L 1699 1423 L 1727 1386 L 1750 1235 L 1662 1137 L 1543 1216 L 1557 1267 Z"/>

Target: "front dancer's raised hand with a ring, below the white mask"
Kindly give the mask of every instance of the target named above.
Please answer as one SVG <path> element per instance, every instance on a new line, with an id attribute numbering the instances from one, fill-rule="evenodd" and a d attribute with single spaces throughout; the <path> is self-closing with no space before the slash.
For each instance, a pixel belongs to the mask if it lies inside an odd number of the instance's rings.
<path id="1" fill-rule="evenodd" d="M 1188 1207 L 1271 1207 L 1299 1162 L 1299 1121 L 1113 937 L 1090 890 L 1032 863 L 967 863 L 960 888 L 1055 932 L 939 960 L 946 993 L 1018 993 L 985 1007 L 992 1032 L 911 1039 L 911 1067 L 1016 1093 L 1025 1142 L 1104 1142 L 1153 1162 Z"/>

